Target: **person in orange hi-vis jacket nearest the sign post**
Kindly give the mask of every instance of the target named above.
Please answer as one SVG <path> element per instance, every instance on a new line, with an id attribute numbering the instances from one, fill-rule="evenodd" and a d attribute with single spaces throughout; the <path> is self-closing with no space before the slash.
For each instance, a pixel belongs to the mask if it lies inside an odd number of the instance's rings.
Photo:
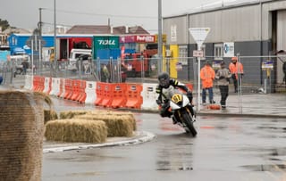
<path id="1" fill-rule="evenodd" d="M 200 70 L 200 78 L 202 80 L 203 92 L 202 99 L 203 104 L 206 104 L 206 90 L 208 91 L 209 103 L 214 102 L 213 82 L 214 82 L 214 69 L 211 67 L 211 63 L 206 61 L 205 66 Z"/>

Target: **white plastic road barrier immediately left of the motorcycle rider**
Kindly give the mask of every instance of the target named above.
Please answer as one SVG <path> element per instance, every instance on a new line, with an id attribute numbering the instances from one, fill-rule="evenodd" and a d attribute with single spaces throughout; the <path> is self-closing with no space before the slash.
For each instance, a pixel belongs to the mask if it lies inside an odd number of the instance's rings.
<path id="1" fill-rule="evenodd" d="M 158 110 L 158 105 L 156 104 L 156 98 L 158 95 L 156 94 L 156 84 L 147 84 L 143 83 L 142 97 L 143 103 L 141 105 L 141 110 Z"/>

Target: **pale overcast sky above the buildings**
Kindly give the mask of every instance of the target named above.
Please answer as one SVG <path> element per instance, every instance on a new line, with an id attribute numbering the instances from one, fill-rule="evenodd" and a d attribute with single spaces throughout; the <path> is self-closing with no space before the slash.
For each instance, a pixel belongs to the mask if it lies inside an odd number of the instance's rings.
<path id="1" fill-rule="evenodd" d="M 39 8 L 42 10 L 43 30 L 54 29 L 54 0 L 2 0 L 0 19 L 13 27 L 36 29 Z M 163 16 L 223 0 L 162 0 Z M 157 31 L 158 1 L 156 0 L 56 0 L 56 24 L 142 26 L 150 33 Z"/>

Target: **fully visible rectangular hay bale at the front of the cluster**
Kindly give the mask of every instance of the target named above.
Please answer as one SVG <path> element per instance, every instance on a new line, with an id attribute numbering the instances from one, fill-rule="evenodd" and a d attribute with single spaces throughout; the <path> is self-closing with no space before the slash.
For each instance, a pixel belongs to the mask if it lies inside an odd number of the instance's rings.
<path id="1" fill-rule="evenodd" d="M 56 119 L 46 123 L 47 141 L 105 143 L 107 128 L 104 121 Z"/>

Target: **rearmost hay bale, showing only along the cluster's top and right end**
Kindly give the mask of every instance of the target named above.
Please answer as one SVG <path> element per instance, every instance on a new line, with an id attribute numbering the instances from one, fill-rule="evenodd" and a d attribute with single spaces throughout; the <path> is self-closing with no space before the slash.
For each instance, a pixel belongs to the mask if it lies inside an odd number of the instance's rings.
<path id="1" fill-rule="evenodd" d="M 92 115 L 106 115 L 106 116 L 127 116 L 130 117 L 130 121 L 132 121 L 133 125 L 133 131 L 137 130 L 137 124 L 136 124 L 136 119 L 135 116 L 132 112 L 126 112 L 126 111 L 89 111 L 87 114 L 92 114 Z"/>

